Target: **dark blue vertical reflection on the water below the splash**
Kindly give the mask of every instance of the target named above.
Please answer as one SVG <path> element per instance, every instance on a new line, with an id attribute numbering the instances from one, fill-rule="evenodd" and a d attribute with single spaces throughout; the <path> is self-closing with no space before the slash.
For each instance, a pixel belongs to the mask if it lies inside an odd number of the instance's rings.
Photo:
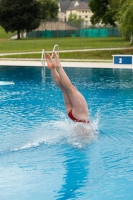
<path id="1" fill-rule="evenodd" d="M 89 161 L 86 150 L 71 149 L 64 153 L 66 160 L 63 166 L 66 170 L 61 189 L 56 196 L 57 200 L 76 199 L 82 196 L 80 190 L 87 183 L 89 175 Z"/>

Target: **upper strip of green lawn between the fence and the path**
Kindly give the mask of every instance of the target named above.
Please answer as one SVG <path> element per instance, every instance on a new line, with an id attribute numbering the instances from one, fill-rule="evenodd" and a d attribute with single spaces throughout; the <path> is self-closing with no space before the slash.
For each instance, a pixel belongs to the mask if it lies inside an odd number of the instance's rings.
<path id="1" fill-rule="evenodd" d="M 60 50 L 86 49 L 86 48 L 113 48 L 128 47 L 129 41 L 123 41 L 120 37 L 106 38 L 44 38 L 44 39 L 21 39 L 21 40 L 1 40 L 0 53 L 4 52 L 27 52 L 52 50 L 58 44 Z"/>

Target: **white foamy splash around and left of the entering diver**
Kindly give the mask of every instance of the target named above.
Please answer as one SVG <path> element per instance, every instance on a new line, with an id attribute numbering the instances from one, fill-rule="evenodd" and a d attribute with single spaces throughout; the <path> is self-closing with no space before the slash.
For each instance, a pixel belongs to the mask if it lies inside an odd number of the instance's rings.
<path id="1" fill-rule="evenodd" d="M 91 124 L 64 121 L 44 122 L 32 132 L 29 142 L 12 151 L 36 148 L 40 145 L 68 144 L 76 148 L 84 148 L 98 136 L 98 120 Z"/>

